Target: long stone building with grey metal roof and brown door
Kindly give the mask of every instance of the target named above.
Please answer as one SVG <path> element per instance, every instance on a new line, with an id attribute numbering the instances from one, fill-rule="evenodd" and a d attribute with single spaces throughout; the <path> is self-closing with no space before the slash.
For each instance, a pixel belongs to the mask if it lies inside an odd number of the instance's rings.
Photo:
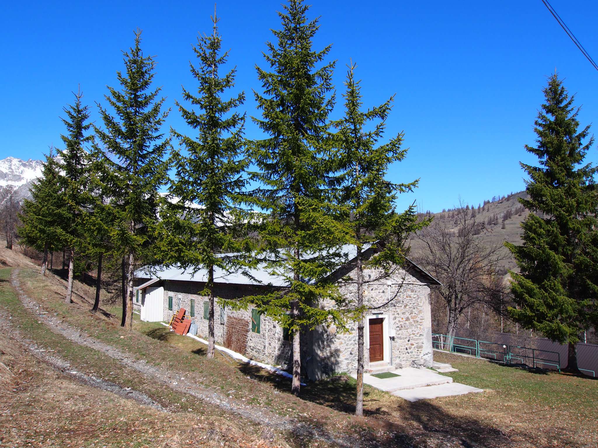
<path id="1" fill-rule="evenodd" d="M 346 248 L 349 259 L 355 247 Z M 366 257 L 371 250 L 365 251 Z M 259 283 L 241 274 L 215 271 L 218 296 L 223 299 L 264 293 L 284 288 L 282 280 L 255 269 L 252 276 Z M 365 368 L 386 370 L 401 367 L 432 365 L 432 326 L 430 287 L 440 285 L 431 275 L 407 260 L 404 268 L 396 268 L 390 276 L 376 280 L 379 272 L 364 272 L 364 301 L 370 311 L 365 321 Z M 199 291 L 205 288 L 206 272 L 191 275 L 182 269 L 162 269 L 154 274 L 136 272 L 136 294 L 133 305 L 142 320 L 169 322 L 180 308 L 197 324 L 197 335 L 208 335 L 208 300 Z M 334 273 L 339 282 L 355 277 L 352 260 Z M 345 296 L 356 297 L 354 283 L 340 283 Z M 320 306 L 331 306 L 321 303 Z M 287 369 L 291 357 L 288 333 L 257 309 L 235 311 L 214 307 L 216 343 L 246 357 Z M 303 374 L 320 379 L 336 372 L 357 369 L 357 324 L 349 323 L 342 332 L 333 325 L 319 326 L 301 336 Z"/>

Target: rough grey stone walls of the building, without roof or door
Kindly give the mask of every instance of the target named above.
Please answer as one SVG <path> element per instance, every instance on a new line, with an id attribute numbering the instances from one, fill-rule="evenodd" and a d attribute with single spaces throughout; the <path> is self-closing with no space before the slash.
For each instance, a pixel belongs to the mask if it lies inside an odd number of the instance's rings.
<path id="1" fill-rule="evenodd" d="M 345 275 L 346 273 L 343 273 Z M 348 273 L 355 277 L 354 272 Z M 385 361 L 397 368 L 429 367 L 432 364 L 432 325 L 430 312 L 430 289 L 416 271 L 408 274 L 397 270 L 391 278 L 374 281 L 376 271 L 365 271 L 364 300 L 370 307 L 365 325 L 365 367 L 369 366 L 368 318 L 384 319 Z M 390 283 L 390 286 L 389 284 Z M 195 300 L 197 335 L 207 339 L 208 320 L 203 318 L 203 303 L 208 297 L 199 291 L 205 283 L 164 280 L 164 321 L 169 322 L 180 307 L 190 314 L 190 301 Z M 342 284 L 341 293 L 356 302 L 356 285 Z M 232 300 L 246 295 L 265 293 L 269 287 L 226 284 L 216 285 L 216 294 L 222 299 Z M 172 296 L 173 309 L 168 309 L 168 297 Z M 392 300 L 389 300 L 392 299 Z M 389 303 L 386 303 L 389 302 Z M 141 299 L 140 299 L 141 303 Z M 320 306 L 332 306 L 323 302 Z M 221 320 L 221 306 L 214 304 L 214 333 L 218 345 L 224 345 L 247 357 L 264 361 L 287 369 L 291 362 L 291 343 L 283 340 L 282 328 L 265 315 L 261 316 L 260 333 L 251 331 L 251 307 L 233 311 L 224 309 Z M 301 335 L 302 375 L 319 379 L 335 372 L 357 370 L 357 324 L 349 323 L 347 332 L 335 326 L 322 325 Z M 390 348 L 390 349 L 389 349 Z"/>

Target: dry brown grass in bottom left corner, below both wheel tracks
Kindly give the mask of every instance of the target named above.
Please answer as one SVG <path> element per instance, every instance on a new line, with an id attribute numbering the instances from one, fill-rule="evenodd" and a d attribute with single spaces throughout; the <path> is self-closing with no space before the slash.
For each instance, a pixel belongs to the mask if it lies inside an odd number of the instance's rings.
<path id="1" fill-rule="evenodd" d="M 0 333 L 2 446 L 272 446 L 224 418 L 165 413 L 73 381 Z M 14 373 L 12 373 L 14 372 Z"/>

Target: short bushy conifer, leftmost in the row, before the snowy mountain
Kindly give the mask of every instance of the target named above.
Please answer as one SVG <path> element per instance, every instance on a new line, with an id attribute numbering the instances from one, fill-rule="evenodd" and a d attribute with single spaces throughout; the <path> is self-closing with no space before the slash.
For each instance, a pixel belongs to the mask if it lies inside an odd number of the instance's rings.
<path id="1" fill-rule="evenodd" d="M 19 237 L 25 246 L 43 253 L 41 274 L 45 275 L 48 266 L 48 253 L 62 246 L 60 225 L 68 219 L 64 199 L 59 185 L 59 168 L 54 161 L 54 149 L 45 156 L 41 177 L 30 188 L 31 200 L 23 201 L 23 211 L 19 215 L 22 226 Z"/>

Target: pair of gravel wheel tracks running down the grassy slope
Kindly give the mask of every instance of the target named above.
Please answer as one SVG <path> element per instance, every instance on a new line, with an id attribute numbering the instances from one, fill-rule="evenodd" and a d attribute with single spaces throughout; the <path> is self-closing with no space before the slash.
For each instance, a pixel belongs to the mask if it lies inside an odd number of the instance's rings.
<path id="1" fill-rule="evenodd" d="M 339 437 L 338 435 L 332 435 L 325 429 L 318 428 L 316 426 L 306 424 L 304 422 L 296 421 L 295 419 L 285 418 L 276 415 L 266 409 L 260 409 L 255 406 L 239 403 L 238 401 L 229 398 L 226 395 L 221 394 L 220 392 L 213 391 L 212 389 L 199 385 L 194 381 L 190 381 L 190 379 L 187 379 L 184 376 L 180 376 L 180 374 L 178 373 L 173 374 L 172 371 L 164 369 L 163 367 L 153 366 L 151 364 L 148 364 L 145 360 L 137 360 L 131 355 L 126 354 L 105 342 L 94 339 L 92 336 L 87 335 L 84 332 L 81 332 L 81 330 L 76 329 L 75 327 L 63 323 L 59 318 L 53 317 L 49 315 L 47 312 L 43 311 L 41 306 L 39 306 L 39 304 L 35 302 L 35 300 L 30 299 L 30 297 L 28 297 L 20 287 L 19 278 L 17 277 L 18 272 L 19 269 L 13 269 L 13 272 L 11 273 L 11 284 L 14 287 L 14 290 L 16 291 L 17 296 L 19 297 L 19 300 L 27 309 L 29 309 L 32 315 L 35 315 L 39 321 L 50 327 L 52 332 L 62 335 L 66 337 L 66 339 L 71 340 L 72 342 L 100 351 L 108 355 L 109 357 L 118 360 L 121 364 L 137 370 L 138 372 L 142 373 L 142 375 L 149 379 L 152 379 L 153 381 L 163 383 L 164 385 L 169 386 L 169 388 L 175 391 L 193 395 L 193 397 L 199 398 L 200 400 L 206 401 L 207 403 L 212 404 L 214 406 L 221 407 L 221 409 L 224 409 L 227 412 L 236 413 L 242 418 L 249 419 L 250 421 L 256 422 L 257 424 L 269 426 L 270 428 L 275 428 L 277 430 L 282 429 L 283 431 L 288 431 L 291 434 L 297 435 L 302 438 L 307 437 L 319 439 L 327 443 L 331 443 L 333 445 L 341 447 L 379 446 L 378 444 L 372 445 L 360 443 L 360 441 L 356 438 Z M 33 353 L 39 356 L 42 356 L 43 354 L 43 352 L 36 352 L 35 350 L 33 350 Z M 56 358 L 54 361 L 51 360 L 51 357 L 48 358 L 48 363 L 51 364 L 52 362 L 54 362 L 56 366 L 63 366 L 64 370 L 60 368 L 59 370 L 62 370 L 63 372 L 68 372 L 69 375 L 75 376 L 75 378 L 80 379 L 80 381 L 89 381 L 90 385 L 103 386 L 106 388 L 112 386 L 115 386 L 116 388 L 120 387 L 118 385 L 111 385 L 111 383 L 103 380 L 99 381 L 97 378 L 93 378 L 91 376 L 86 376 L 84 373 L 81 372 L 69 372 L 68 363 L 65 363 L 65 361 L 63 360 L 59 360 L 58 358 Z M 125 390 L 125 392 L 126 395 L 130 395 L 130 391 Z M 120 391 L 120 393 L 123 393 L 123 391 Z M 146 404 L 150 404 L 149 402 L 154 403 L 151 400 L 151 398 L 147 397 L 147 395 L 145 394 L 142 394 L 142 392 L 131 393 L 136 395 L 133 395 L 130 398 L 138 400 L 147 399 L 148 401 Z"/>

